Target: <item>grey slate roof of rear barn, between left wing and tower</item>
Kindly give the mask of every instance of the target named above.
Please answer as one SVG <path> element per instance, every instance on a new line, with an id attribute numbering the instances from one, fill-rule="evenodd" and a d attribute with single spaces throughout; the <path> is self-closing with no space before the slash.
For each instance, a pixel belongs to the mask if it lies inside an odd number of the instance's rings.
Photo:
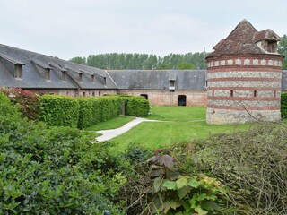
<path id="1" fill-rule="evenodd" d="M 122 90 L 206 90 L 205 70 L 109 70 L 111 78 Z"/>

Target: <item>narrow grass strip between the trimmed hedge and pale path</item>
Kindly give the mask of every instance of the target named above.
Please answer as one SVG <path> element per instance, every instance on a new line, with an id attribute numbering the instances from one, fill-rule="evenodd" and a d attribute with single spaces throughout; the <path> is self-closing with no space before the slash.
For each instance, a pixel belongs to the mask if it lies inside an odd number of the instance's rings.
<path id="1" fill-rule="evenodd" d="M 106 129 L 115 129 L 125 125 L 126 123 L 135 119 L 133 116 L 117 116 L 116 118 L 110 119 L 109 121 L 102 122 L 97 125 L 91 125 L 90 127 L 86 128 L 88 131 L 100 131 Z"/>

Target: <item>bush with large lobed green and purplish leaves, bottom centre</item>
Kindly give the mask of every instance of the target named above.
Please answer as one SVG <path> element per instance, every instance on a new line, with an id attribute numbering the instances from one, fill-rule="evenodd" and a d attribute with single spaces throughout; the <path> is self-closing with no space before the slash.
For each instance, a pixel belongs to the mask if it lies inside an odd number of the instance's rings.
<path id="1" fill-rule="evenodd" d="M 178 157 L 188 159 L 187 154 L 193 153 L 188 147 L 184 151 L 178 154 L 172 149 L 157 150 L 151 159 L 137 164 L 135 176 L 127 178 L 128 183 L 122 191 L 126 196 L 128 214 L 204 215 L 224 212 L 224 189 L 216 179 L 181 171 Z M 169 154 L 177 154 L 177 157 Z"/>

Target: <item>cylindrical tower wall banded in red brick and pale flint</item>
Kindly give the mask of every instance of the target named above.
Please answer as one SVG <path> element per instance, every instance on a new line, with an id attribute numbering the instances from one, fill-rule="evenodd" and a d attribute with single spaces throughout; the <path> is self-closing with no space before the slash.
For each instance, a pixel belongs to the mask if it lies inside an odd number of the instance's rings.
<path id="1" fill-rule="evenodd" d="M 223 56 L 208 59 L 209 124 L 280 119 L 282 56 Z M 279 113 L 279 114 L 278 114 Z"/>

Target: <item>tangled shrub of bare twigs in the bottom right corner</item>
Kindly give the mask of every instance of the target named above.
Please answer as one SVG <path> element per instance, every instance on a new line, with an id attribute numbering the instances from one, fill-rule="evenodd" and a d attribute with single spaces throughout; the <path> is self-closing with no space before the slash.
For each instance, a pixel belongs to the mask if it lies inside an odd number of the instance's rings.
<path id="1" fill-rule="evenodd" d="M 254 125 L 201 142 L 203 171 L 230 186 L 230 199 L 246 214 L 287 214 L 287 125 Z"/>

